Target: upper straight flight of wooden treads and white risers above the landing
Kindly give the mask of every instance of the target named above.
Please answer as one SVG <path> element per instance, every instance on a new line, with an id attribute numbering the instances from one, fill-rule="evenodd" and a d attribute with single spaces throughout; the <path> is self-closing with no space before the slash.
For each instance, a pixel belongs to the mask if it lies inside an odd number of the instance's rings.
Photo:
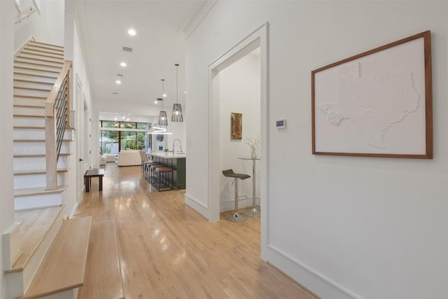
<path id="1" fill-rule="evenodd" d="M 15 210 L 62 204 L 73 130 L 66 130 L 57 162 L 58 187 L 46 189 L 45 99 L 64 66 L 64 49 L 29 41 L 14 59 L 14 197 Z"/>

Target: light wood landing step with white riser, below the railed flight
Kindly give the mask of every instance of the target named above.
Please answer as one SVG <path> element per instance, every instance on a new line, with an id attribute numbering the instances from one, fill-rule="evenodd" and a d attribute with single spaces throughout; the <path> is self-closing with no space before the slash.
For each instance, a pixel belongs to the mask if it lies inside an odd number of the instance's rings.
<path id="1" fill-rule="evenodd" d="M 6 270 L 7 284 L 15 296 L 22 295 L 36 273 L 45 252 L 62 223 L 62 207 L 48 207 L 15 211 L 15 222 L 20 223 L 20 256 L 10 270 Z M 16 281 L 13 281 L 13 280 Z M 20 281 L 20 283 L 18 283 Z"/>

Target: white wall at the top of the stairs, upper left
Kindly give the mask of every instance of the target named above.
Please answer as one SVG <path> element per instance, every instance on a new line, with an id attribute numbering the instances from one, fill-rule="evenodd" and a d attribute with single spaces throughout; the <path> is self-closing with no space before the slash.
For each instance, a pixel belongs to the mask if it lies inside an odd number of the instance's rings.
<path id="1" fill-rule="evenodd" d="M 64 45 L 64 0 L 41 0 L 36 12 L 15 26 L 14 49 L 18 50 L 31 36 L 41 43 Z M 34 7 L 32 0 L 22 0 L 22 13 Z"/>

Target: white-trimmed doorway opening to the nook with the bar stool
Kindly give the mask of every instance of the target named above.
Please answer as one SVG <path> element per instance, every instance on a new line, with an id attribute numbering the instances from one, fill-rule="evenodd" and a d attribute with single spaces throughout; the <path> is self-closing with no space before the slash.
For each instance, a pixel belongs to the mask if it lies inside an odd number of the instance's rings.
<path id="1" fill-rule="evenodd" d="M 267 194 L 267 23 L 239 42 L 209 65 L 209 221 L 218 221 L 220 213 L 234 207 L 232 179 L 223 169 L 252 174 L 251 149 L 242 139 L 258 136 L 255 199 L 265 215 Z M 230 138 L 231 113 L 242 115 L 242 139 Z M 239 195 L 248 198 L 240 207 L 251 207 L 252 179 L 240 183 Z M 265 221 L 262 221 L 265 223 Z M 265 225 L 262 224 L 262 235 Z M 263 239 L 263 237 L 262 237 Z"/>

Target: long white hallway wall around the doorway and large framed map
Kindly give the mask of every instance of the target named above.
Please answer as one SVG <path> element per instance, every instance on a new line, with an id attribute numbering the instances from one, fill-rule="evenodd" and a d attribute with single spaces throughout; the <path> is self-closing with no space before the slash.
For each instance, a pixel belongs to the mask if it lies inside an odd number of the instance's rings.
<path id="1" fill-rule="evenodd" d="M 446 298 L 447 11 L 443 1 L 218 1 L 187 40 L 188 195 L 207 206 L 208 66 L 269 21 L 262 257 L 323 298 Z M 427 29 L 434 159 L 311 155 L 311 70 Z"/>

